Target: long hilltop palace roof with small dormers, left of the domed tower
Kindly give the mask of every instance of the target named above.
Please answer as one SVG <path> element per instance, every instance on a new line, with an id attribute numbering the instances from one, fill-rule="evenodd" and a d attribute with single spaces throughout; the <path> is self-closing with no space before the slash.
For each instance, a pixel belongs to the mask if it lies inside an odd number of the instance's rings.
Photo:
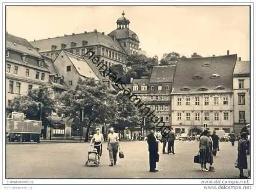
<path id="1" fill-rule="evenodd" d="M 82 41 L 87 41 L 86 45 L 82 44 Z M 76 43 L 75 46 L 71 46 L 71 42 Z M 114 49 L 121 53 L 126 54 L 118 41 L 114 41 L 110 36 L 106 36 L 99 32 L 89 32 L 89 33 L 80 33 L 74 35 L 66 35 L 55 38 L 48 38 L 42 40 L 32 41 L 31 44 L 39 48 L 39 52 L 52 51 L 52 45 L 55 45 L 54 50 L 61 50 L 61 44 L 66 44 L 64 49 L 78 48 L 78 47 L 88 47 L 93 45 L 103 45 L 105 47 Z"/>

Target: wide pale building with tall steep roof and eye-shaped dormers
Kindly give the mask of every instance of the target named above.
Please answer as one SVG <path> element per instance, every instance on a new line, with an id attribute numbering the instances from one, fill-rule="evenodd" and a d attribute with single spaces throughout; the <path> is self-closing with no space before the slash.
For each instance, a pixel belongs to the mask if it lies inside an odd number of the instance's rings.
<path id="1" fill-rule="evenodd" d="M 232 74 L 237 55 L 180 59 L 172 92 L 175 133 L 233 131 Z"/>

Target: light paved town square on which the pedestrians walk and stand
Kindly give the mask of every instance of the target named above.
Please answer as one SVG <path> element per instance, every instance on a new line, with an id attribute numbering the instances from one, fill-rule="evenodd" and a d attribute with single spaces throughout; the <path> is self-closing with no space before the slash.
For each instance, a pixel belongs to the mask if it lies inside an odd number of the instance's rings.
<path id="1" fill-rule="evenodd" d="M 159 172 L 150 173 L 146 141 L 120 142 L 125 157 L 109 167 L 106 143 L 99 167 L 84 167 L 89 143 L 7 144 L 7 178 L 238 178 L 234 168 L 237 145 L 220 142 L 220 151 L 214 157 L 216 172 L 201 172 L 194 164 L 199 142 L 175 142 L 175 155 L 159 151 Z M 162 150 L 162 143 L 159 150 Z M 167 150 L 167 147 L 166 147 Z M 249 156 L 248 156 L 249 161 Z M 245 171 L 248 175 L 248 170 Z"/>

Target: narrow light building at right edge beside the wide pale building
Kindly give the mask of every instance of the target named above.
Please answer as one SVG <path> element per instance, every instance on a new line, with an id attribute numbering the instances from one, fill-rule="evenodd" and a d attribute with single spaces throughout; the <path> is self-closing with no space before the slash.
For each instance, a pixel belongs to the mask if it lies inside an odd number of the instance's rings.
<path id="1" fill-rule="evenodd" d="M 233 72 L 234 133 L 250 124 L 250 62 L 239 61 Z"/>

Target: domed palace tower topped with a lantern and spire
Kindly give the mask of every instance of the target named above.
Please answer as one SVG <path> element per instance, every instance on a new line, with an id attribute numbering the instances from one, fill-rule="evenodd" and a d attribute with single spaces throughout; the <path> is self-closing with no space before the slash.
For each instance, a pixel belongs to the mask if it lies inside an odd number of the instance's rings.
<path id="1" fill-rule="evenodd" d="M 110 36 L 121 44 L 127 55 L 131 56 L 138 52 L 140 42 L 135 32 L 130 30 L 130 20 L 124 15 L 123 12 L 122 17 L 117 19 L 117 28 L 110 33 Z"/>

